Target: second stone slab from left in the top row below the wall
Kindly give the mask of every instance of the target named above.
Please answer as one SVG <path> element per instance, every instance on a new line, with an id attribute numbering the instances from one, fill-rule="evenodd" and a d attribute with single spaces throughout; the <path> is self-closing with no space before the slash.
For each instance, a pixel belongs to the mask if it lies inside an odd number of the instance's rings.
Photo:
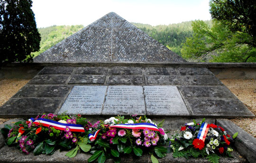
<path id="1" fill-rule="evenodd" d="M 78 68 L 75 74 L 78 75 L 105 75 L 108 72 L 108 68 L 103 67 L 82 67 Z"/>

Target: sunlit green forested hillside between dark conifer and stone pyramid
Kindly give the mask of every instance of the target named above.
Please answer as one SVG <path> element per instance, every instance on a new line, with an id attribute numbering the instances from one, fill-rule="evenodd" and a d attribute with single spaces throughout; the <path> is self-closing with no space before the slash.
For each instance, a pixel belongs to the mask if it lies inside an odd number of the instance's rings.
<path id="1" fill-rule="evenodd" d="M 59 43 L 68 36 L 81 30 L 82 28 L 83 25 L 49 26 L 45 28 L 38 28 L 38 31 L 41 34 L 40 50 L 33 53 L 34 57 L 54 46 L 56 43 Z"/>

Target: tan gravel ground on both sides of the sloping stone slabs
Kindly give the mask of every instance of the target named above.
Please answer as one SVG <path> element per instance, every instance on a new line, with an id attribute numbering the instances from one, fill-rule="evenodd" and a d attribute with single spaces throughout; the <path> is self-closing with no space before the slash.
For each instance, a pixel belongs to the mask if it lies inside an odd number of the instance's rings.
<path id="1" fill-rule="evenodd" d="M 0 106 L 9 100 L 29 79 L 0 79 Z M 222 79 L 224 85 L 256 115 L 256 80 Z M 9 119 L 0 119 L 0 124 Z M 237 118 L 232 121 L 256 137 L 256 118 Z"/>

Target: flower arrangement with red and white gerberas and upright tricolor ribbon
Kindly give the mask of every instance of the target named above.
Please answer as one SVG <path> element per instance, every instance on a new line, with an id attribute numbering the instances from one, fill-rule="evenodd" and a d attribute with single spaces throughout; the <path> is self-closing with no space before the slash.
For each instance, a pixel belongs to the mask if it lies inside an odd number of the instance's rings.
<path id="1" fill-rule="evenodd" d="M 230 147 L 238 133 L 233 137 L 228 131 L 215 124 L 207 124 L 203 119 L 197 123 L 185 123 L 171 139 L 174 157 L 206 157 L 211 163 L 219 163 L 219 156 L 232 157 Z"/>

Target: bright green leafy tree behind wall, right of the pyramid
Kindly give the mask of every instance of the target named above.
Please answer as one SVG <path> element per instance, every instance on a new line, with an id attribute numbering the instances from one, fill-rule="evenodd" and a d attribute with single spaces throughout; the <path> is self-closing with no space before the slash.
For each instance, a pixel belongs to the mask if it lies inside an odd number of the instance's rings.
<path id="1" fill-rule="evenodd" d="M 181 51 L 184 59 L 210 62 L 256 61 L 256 48 L 244 43 L 249 38 L 247 33 L 232 32 L 218 20 L 213 20 L 212 27 L 203 21 L 194 21 L 192 30 L 193 36 L 186 39 Z"/>

